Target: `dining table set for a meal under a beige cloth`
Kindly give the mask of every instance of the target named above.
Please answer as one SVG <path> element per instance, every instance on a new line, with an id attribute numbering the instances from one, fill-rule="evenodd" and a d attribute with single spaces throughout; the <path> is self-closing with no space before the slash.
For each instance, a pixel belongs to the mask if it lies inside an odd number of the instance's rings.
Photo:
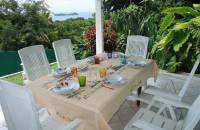
<path id="1" fill-rule="evenodd" d="M 143 60 L 144 66 L 121 64 L 119 57 L 103 58 L 99 64 L 82 60 L 73 66 L 87 66 L 78 74 L 86 76 L 86 86 L 70 94 L 57 94 L 51 90 L 66 77 L 43 76 L 27 85 L 31 89 L 35 102 L 47 108 L 49 113 L 61 121 L 82 120 L 78 130 L 111 130 L 108 122 L 118 111 L 133 90 L 141 93 L 141 85 L 148 78 L 156 80 L 158 67 L 152 59 L 130 56 L 127 61 Z M 99 77 L 99 68 L 106 68 L 107 75 L 117 74 L 124 79 L 122 84 L 106 83 Z M 71 77 L 78 83 L 77 77 Z M 133 102 L 134 103 L 134 102 Z"/>

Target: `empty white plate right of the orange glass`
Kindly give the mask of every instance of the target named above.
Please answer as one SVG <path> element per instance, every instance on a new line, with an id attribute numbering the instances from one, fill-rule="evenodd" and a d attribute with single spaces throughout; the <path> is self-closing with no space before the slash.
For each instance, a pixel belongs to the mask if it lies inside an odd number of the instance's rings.
<path id="1" fill-rule="evenodd" d="M 112 74 L 106 77 L 105 82 L 114 84 L 114 85 L 121 85 L 125 83 L 125 80 L 122 76 L 118 74 Z"/>

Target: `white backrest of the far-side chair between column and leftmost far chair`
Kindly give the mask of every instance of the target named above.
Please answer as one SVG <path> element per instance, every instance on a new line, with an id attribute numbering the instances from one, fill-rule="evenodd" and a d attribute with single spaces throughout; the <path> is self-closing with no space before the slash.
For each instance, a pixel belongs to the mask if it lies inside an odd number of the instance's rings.
<path id="1" fill-rule="evenodd" d="M 76 62 L 70 39 L 53 42 L 53 48 L 59 68 L 69 67 Z"/>

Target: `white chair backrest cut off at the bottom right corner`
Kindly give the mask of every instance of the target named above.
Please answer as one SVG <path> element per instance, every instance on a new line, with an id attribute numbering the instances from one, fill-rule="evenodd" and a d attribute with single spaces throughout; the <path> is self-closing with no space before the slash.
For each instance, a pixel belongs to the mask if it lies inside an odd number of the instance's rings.
<path id="1" fill-rule="evenodd" d="M 200 120 L 200 95 L 190 107 L 184 120 L 184 130 L 193 130 Z"/>

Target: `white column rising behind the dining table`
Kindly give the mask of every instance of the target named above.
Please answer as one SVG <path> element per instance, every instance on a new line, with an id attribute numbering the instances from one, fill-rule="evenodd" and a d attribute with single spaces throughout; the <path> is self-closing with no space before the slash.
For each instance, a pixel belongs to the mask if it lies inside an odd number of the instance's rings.
<path id="1" fill-rule="evenodd" d="M 103 2 L 95 0 L 96 6 L 96 54 L 104 52 L 104 37 L 103 37 Z"/>

